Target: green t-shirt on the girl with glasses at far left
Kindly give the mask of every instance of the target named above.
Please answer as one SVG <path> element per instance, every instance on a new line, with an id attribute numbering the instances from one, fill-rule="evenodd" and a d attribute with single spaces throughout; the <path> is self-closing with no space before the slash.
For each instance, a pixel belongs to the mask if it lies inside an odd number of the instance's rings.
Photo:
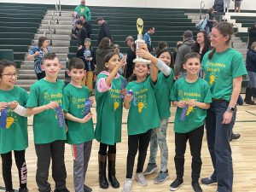
<path id="1" fill-rule="evenodd" d="M 0 90 L 0 102 L 19 102 L 26 107 L 26 90 L 15 86 L 12 90 Z M 6 127 L 0 127 L 0 154 L 27 148 L 27 119 L 8 109 Z"/>

